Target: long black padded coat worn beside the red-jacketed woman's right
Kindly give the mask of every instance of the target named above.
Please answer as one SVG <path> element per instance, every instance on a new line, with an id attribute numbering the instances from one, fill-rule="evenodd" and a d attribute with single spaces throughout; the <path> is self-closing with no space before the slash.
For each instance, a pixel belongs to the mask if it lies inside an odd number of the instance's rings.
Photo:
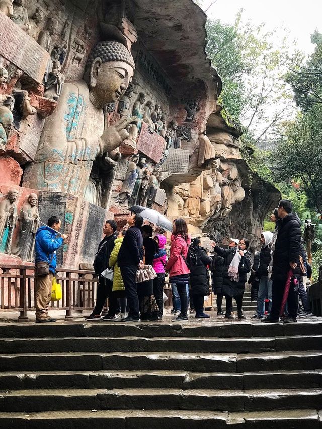
<path id="1" fill-rule="evenodd" d="M 189 284 L 193 295 L 209 295 L 209 278 L 206 265 L 212 263 L 211 257 L 207 256 L 203 247 L 194 246 L 189 249 L 187 262 L 190 269 Z"/>

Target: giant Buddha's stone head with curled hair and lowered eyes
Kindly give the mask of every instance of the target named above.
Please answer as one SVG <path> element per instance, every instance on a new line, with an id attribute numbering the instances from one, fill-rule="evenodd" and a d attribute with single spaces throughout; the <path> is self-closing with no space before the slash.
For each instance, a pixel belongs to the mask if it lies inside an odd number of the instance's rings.
<path id="1" fill-rule="evenodd" d="M 98 105 L 113 103 L 124 94 L 134 74 L 134 60 L 119 42 L 100 42 L 87 60 L 84 79 Z"/>

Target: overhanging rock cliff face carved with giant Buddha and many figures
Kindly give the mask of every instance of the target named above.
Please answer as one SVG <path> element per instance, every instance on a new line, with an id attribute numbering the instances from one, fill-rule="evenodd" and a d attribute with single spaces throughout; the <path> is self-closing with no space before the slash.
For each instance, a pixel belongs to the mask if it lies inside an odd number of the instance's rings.
<path id="1" fill-rule="evenodd" d="M 259 232 L 277 193 L 250 182 L 240 130 L 220 114 L 192 0 L 3 10 L 0 262 L 32 263 L 39 221 L 57 215 L 69 234 L 58 263 L 91 263 L 104 220 L 121 228 L 135 204 L 184 217 L 195 234 Z"/>

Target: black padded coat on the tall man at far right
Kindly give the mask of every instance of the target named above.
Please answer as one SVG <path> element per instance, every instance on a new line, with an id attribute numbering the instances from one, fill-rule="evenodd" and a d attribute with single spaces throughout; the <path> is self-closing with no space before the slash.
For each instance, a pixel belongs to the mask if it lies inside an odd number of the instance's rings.
<path id="1" fill-rule="evenodd" d="M 300 273 L 301 221 L 296 213 L 282 219 L 277 233 L 273 255 L 272 280 L 286 282 L 290 262 L 296 262 L 294 274 Z"/>

